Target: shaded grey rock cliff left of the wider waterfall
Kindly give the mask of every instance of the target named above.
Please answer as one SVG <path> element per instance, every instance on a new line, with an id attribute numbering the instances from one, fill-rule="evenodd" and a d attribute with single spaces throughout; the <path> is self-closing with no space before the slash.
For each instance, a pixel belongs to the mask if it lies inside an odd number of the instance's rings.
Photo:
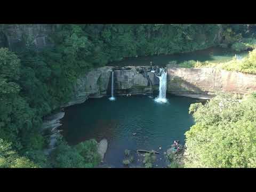
<path id="1" fill-rule="evenodd" d="M 111 94 L 111 73 L 114 71 L 114 94 L 152 94 L 158 90 L 159 79 L 150 67 L 115 68 L 101 67 L 77 79 L 70 102 L 62 107 L 83 103 L 88 98 L 100 98 Z"/>

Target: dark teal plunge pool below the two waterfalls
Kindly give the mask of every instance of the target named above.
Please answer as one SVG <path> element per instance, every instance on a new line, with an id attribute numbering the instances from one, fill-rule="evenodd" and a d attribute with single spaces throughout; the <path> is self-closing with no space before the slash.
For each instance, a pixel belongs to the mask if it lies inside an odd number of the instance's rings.
<path id="1" fill-rule="evenodd" d="M 65 109 L 62 119 L 63 135 L 70 145 L 87 139 L 108 140 L 104 162 L 111 167 L 123 167 L 124 150 L 158 150 L 155 163 L 164 167 L 163 152 L 174 140 L 184 142 L 184 133 L 193 125 L 193 117 L 188 114 L 191 103 L 202 100 L 166 95 L 168 103 L 154 102 L 147 96 L 108 97 L 89 99 L 81 105 Z M 133 133 L 137 133 L 133 135 Z M 159 150 L 159 146 L 162 150 Z M 134 166 L 141 165 L 143 159 L 135 155 Z M 160 159 L 162 158 L 162 160 Z"/>

